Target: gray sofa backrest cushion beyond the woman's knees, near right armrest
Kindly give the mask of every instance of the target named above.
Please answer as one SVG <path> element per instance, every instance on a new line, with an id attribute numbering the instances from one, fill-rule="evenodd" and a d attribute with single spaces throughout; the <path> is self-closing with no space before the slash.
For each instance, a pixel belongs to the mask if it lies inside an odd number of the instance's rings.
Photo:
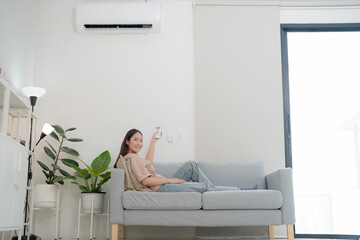
<path id="1" fill-rule="evenodd" d="M 265 164 L 198 162 L 200 169 L 218 186 L 252 187 L 266 189 Z"/>

